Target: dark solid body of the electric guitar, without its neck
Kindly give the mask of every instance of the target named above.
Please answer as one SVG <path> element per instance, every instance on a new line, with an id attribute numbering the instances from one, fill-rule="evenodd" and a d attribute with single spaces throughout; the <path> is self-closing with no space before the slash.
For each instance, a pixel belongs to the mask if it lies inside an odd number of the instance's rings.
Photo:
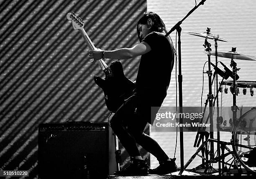
<path id="1" fill-rule="evenodd" d="M 108 110 L 115 113 L 124 100 L 132 95 L 135 84 L 125 77 L 120 61 L 113 62 L 110 65 L 110 70 L 111 76 L 106 75 L 105 79 L 95 76 L 94 81 L 104 92 Z"/>

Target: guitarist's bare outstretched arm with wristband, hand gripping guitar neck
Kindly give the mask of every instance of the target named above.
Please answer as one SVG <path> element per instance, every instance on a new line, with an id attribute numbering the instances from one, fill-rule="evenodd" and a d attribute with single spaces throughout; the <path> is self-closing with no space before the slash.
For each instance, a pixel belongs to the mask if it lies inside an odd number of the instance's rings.
<path id="1" fill-rule="evenodd" d="M 136 56 L 140 56 L 143 54 L 148 53 L 151 50 L 150 46 L 146 42 L 141 42 L 132 48 L 122 48 L 117 50 L 111 51 L 104 51 L 104 57 L 106 59 L 131 59 Z M 92 63 L 95 61 L 102 59 L 102 50 L 90 50 L 89 51 L 89 58 L 94 59 Z"/>

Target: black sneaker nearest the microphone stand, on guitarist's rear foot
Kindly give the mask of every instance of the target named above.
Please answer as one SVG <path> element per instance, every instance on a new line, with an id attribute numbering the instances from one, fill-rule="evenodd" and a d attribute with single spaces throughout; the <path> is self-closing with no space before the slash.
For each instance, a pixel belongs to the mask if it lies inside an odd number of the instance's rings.
<path id="1" fill-rule="evenodd" d="M 149 174 L 157 174 L 157 175 L 166 175 L 172 172 L 177 171 L 177 165 L 175 164 L 174 159 L 170 159 L 170 161 L 164 161 L 164 163 L 160 164 L 155 169 L 148 169 Z"/>

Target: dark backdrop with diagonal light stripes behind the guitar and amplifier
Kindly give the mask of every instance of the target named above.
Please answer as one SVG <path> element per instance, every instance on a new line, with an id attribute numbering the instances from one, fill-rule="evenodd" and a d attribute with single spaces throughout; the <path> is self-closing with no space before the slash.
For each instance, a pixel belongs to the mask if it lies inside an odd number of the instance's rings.
<path id="1" fill-rule="evenodd" d="M 104 76 L 66 18 L 72 11 L 96 47 L 112 50 L 138 43 L 136 23 L 146 0 L 0 0 L 0 170 L 38 177 L 40 123 L 108 121 L 93 80 Z M 131 80 L 139 59 L 122 62 Z"/>

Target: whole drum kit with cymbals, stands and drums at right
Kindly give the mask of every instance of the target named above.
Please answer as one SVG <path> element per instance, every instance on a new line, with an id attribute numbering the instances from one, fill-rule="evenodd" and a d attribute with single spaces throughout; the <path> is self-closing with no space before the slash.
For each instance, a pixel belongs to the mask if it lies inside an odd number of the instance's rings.
<path id="1" fill-rule="evenodd" d="M 207 95 L 207 100 L 205 102 L 205 108 L 209 102 L 209 115 L 207 117 L 206 123 L 210 118 L 210 138 L 209 133 L 205 131 L 205 128 L 199 128 L 195 140 L 195 146 L 199 147 L 196 153 L 189 159 L 187 164 L 185 164 L 184 169 L 192 162 L 195 156 L 200 156 L 202 158 L 202 164 L 192 169 L 191 171 L 196 171 L 199 169 L 204 169 L 206 172 L 209 171 L 210 167 L 212 167 L 213 163 L 219 164 L 219 173 L 222 174 L 228 173 L 233 167 L 236 169 L 238 173 L 242 173 L 243 169 L 245 169 L 248 173 L 256 174 L 256 107 L 250 108 L 246 113 L 242 114 L 242 110 L 240 111 L 240 117 L 237 118 L 237 112 L 240 110 L 236 105 L 236 97 L 238 96 L 239 88 L 243 89 L 243 95 L 246 95 L 246 90 L 250 89 L 250 94 L 253 96 L 253 88 L 256 88 L 256 81 L 237 81 L 238 71 L 240 68 L 237 67 L 237 63 L 234 59 L 237 60 L 247 60 L 247 61 L 256 61 L 255 56 L 249 56 L 245 54 L 240 54 L 236 51 L 236 48 L 232 47 L 231 51 L 220 52 L 217 51 L 217 41 L 228 42 L 225 38 L 220 38 L 219 36 L 214 36 L 210 32 L 210 28 L 207 28 L 206 32 L 203 33 L 194 33 L 194 32 L 186 32 L 189 35 L 205 38 L 205 43 L 203 46 L 205 47 L 205 54 L 208 56 L 208 71 L 204 72 L 208 74 L 209 80 L 209 94 Z M 212 51 L 211 44 L 207 41 L 208 39 L 215 40 L 215 51 Z M 212 64 L 210 61 L 210 57 L 215 56 L 216 65 Z M 230 59 L 230 70 L 227 66 L 225 66 L 221 61 L 217 61 L 218 57 L 228 58 Z M 217 64 L 220 62 L 224 67 L 224 70 L 218 68 Z M 215 97 L 212 94 L 212 71 L 210 66 L 214 67 L 214 77 L 217 81 L 216 84 L 216 95 Z M 222 81 L 218 83 L 218 75 L 222 77 Z M 231 77 L 233 80 L 224 81 L 224 79 L 228 79 Z M 230 86 L 230 92 L 233 95 L 233 105 L 231 106 L 232 118 L 229 120 L 230 127 L 227 127 L 227 120 L 223 120 L 221 116 L 219 116 L 219 108 L 218 108 L 218 92 L 223 92 L 223 86 Z M 228 93 L 228 88 L 225 87 L 225 93 Z M 217 131 L 218 131 L 218 140 L 213 137 L 213 111 L 212 107 L 215 107 L 215 100 L 217 99 Z M 254 104 L 255 105 L 255 104 Z M 203 116 L 205 113 L 205 109 L 203 112 Z M 202 120 L 201 120 L 202 123 Z M 221 125 L 223 124 L 223 127 Z M 220 131 L 228 131 L 232 133 L 232 139 L 230 142 L 220 141 L 219 132 Z M 197 141 L 199 139 L 199 141 Z M 205 139 L 205 141 L 204 141 Z M 202 145 L 200 142 L 202 141 Z M 208 143 L 210 146 L 210 151 L 208 151 Z M 213 143 L 217 143 L 218 145 L 218 154 L 215 157 L 214 153 L 214 145 Z M 232 146 L 233 151 L 231 151 L 228 146 Z M 221 153 L 220 153 L 221 150 Z M 227 153 L 225 153 L 227 151 Z M 199 153 L 202 152 L 202 155 Z M 225 161 L 228 155 L 231 155 L 231 159 Z M 209 159 L 209 158 L 210 159 Z M 222 164 L 222 166 L 220 166 Z M 243 167 L 243 169 L 242 169 Z M 212 169 L 211 169 L 212 170 Z"/>

